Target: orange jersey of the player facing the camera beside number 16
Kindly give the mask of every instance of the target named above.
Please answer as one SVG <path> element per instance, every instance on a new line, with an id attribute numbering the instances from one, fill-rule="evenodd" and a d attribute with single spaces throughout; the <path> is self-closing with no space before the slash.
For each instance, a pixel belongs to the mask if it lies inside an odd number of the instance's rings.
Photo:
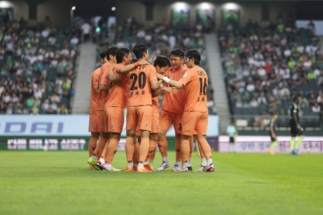
<path id="1" fill-rule="evenodd" d="M 188 70 L 187 67 L 184 67 L 180 71 L 174 69 L 173 67 L 170 67 L 166 71 L 166 77 L 174 81 L 179 81 L 187 70 Z M 166 87 L 172 87 L 172 86 L 166 83 Z M 164 94 L 163 107 L 161 107 L 161 109 L 172 113 L 182 114 L 184 112 L 185 99 L 186 99 L 185 87 L 183 86 L 180 89 L 174 89 L 174 90 L 176 90 L 176 94 L 174 95 L 170 93 Z"/>

